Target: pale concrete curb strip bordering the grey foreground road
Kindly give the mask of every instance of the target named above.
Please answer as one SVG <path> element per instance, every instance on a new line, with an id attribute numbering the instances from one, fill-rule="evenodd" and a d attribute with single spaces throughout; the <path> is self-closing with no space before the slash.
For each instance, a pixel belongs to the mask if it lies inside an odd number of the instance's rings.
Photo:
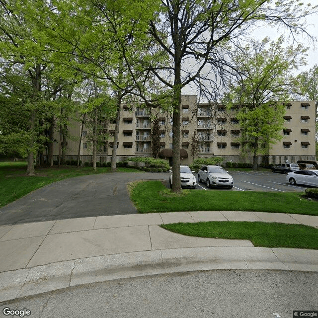
<path id="1" fill-rule="evenodd" d="M 318 250 L 213 246 L 61 261 L 0 273 L 0 302 L 107 280 L 216 269 L 318 272 Z"/>

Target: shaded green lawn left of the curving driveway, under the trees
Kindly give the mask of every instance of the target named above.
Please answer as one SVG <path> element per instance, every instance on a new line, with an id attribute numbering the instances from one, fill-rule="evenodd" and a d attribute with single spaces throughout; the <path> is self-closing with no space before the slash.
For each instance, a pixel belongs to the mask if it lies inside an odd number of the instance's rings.
<path id="1" fill-rule="evenodd" d="M 53 168 L 36 168 L 35 176 L 26 176 L 27 163 L 0 162 L 0 207 L 23 197 L 33 190 L 47 184 L 60 181 L 66 178 L 86 174 L 97 174 L 109 172 L 109 167 L 98 167 L 94 171 L 92 167 L 63 166 Z M 131 168 L 117 168 L 118 172 L 141 172 Z"/>

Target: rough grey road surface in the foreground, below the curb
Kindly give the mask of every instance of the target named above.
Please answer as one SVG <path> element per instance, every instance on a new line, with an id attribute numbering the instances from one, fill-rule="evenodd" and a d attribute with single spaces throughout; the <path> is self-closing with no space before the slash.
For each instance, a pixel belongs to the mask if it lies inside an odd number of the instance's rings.
<path id="1" fill-rule="evenodd" d="M 292 318 L 293 310 L 318 310 L 317 294 L 317 272 L 214 270 L 82 285 L 0 310 L 26 308 L 32 318 Z"/>

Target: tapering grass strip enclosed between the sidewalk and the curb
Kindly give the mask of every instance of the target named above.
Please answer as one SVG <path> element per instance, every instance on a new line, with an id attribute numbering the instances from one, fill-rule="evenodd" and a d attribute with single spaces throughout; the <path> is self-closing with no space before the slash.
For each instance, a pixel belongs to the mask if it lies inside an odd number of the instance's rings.
<path id="1" fill-rule="evenodd" d="M 254 246 L 318 249 L 318 229 L 266 222 L 198 222 L 161 225 L 163 229 L 200 238 L 248 239 Z"/>

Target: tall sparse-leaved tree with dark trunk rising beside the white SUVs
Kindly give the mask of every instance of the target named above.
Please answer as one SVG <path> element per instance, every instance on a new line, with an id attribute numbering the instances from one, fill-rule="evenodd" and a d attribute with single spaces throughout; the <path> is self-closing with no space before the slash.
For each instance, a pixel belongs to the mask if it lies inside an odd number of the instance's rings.
<path id="1" fill-rule="evenodd" d="M 230 62 L 224 56 L 227 44 L 237 43 L 257 21 L 282 23 L 291 31 L 303 30 L 301 18 L 311 7 L 279 0 L 160 0 L 158 14 L 150 21 L 149 37 L 168 54 L 171 65 L 149 63 L 150 72 L 172 90 L 173 164 L 172 192 L 181 191 L 180 104 L 181 90 L 203 79 L 213 85 Z M 149 62 L 149 61 L 146 61 Z"/>

